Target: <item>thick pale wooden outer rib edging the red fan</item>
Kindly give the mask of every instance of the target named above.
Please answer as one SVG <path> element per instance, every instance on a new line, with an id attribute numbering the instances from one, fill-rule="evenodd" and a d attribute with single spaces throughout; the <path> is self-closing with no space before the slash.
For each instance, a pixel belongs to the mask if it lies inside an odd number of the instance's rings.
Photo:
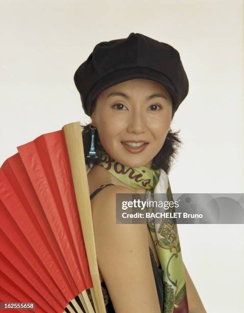
<path id="1" fill-rule="evenodd" d="M 91 295 L 93 294 L 93 304 L 97 313 L 106 313 L 99 269 L 96 260 L 95 239 L 93 232 L 81 123 L 75 122 L 66 124 L 63 126 L 63 131 L 69 155 L 72 179 L 75 187 L 76 200 L 81 219 L 82 233 L 93 284 L 94 294 L 91 292 Z"/>

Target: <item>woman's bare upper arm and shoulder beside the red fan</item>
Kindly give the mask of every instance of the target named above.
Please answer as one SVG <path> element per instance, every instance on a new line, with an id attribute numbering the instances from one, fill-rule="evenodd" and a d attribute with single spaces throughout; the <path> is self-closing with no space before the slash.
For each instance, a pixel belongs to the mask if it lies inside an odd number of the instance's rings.
<path id="1" fill-rule="evenodd" d="M 116 224 L 116 193 L 110 186 L 91 202 L 97 262 L 116 313 L 160 313 L 146 224 Z"/>

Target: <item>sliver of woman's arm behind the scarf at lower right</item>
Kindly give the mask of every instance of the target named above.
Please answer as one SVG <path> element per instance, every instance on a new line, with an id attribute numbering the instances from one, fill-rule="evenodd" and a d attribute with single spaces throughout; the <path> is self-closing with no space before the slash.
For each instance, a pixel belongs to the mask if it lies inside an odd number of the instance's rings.
<path id="1" fill-rule="evenodd" d="M 184 267 L 185 267 L 185 264 L 184 264 Z M 199 297 L 197 289 L 194 286 L 186 267 L 185 267 L 185 279 L 186 279 L 186 294 L 187 294 L 189 313 L 206 313 L 206 310 Z"/>

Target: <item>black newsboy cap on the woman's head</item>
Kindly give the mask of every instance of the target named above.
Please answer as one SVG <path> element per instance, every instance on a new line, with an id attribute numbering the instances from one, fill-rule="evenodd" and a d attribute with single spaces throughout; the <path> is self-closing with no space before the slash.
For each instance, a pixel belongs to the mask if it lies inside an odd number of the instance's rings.
<path id="1" fill-rule="evenodd" d="M 134 78 L 161 83 L 177 110 L 189 90 L 179 52 L 167 43 L 138 33 L 127 38 L 96 44 L 88 59 L 77 69 L 74 80 L 85 113 L 92 114 L 92 104 L 107 88 Z"/>

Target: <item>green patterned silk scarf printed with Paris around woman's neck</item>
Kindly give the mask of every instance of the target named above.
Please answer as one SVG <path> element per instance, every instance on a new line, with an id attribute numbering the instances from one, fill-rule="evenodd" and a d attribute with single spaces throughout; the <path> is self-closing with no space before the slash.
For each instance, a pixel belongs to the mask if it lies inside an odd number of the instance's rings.
<path id="1" fill-rule="evenodd" d="M 132 188 L 143 187 L 153 195 L 157 187 L 156 193 L 166 193 L 167 200 L 173 200 L 168 176 L 162 169 L 153 170 L 145 166 L 131 168 L 116 162 L 108 153 L 102 155 L 100 165 Z M 163 312 L 172 313 L 183 300 L 186 302 L 185 272 L 177 225 L 170 218 L 162 218 L 160 224 L 155 224 L 154 219 L 147 220 L 147 223 L 163 270 Z"/>

